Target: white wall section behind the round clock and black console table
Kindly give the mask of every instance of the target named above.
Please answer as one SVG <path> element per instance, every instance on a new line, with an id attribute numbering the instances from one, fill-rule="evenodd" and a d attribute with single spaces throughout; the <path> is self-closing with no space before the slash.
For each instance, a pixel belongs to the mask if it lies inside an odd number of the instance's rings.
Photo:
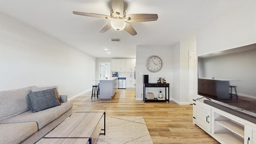
<path id="1" fill-rule="evenodd" d="M 150 72 L 146 68 L 146 60 L 149 56 L 157 55 L 163 61 L 163 67 L 159 72 Z M 170 83 L 170 97 L 172 97 L 172 48 L 171 46 L 137 46 L 136 47 L 136 100 L 142 100 L 143 83 L 142 75 L 148 74 L 149 82 L 157 82 L 159 77 L 165 78 Z M 147 92 L 153 92 L 154 97 L 158 96 L 159 88 L 148 88 Z M 165 95 L 165 90 L 163 95 Z"/>

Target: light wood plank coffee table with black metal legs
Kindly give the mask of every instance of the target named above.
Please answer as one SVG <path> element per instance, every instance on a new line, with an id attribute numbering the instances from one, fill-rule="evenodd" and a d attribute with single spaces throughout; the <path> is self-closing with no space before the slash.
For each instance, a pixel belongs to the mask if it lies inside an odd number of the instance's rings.
<path id="1" fill-rule="evenodd" d="M 104 115 L 104 129 L 98 125 Z M 75 112 L 37 144 L 95 144 L 99 134 L 106 134 L 105 110 Z M 100 133 L 104 131 L 103 133 Z"/>

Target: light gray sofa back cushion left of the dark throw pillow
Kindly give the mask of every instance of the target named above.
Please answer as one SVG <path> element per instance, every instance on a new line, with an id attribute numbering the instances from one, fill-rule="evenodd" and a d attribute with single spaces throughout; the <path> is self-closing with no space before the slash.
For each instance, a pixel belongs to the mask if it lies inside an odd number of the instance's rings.
<path id="1" fill-rule="evenodd" d="M 16 90 L 1 91 L 0 120 L 4 120 L 30 110 L 28 93 L 30 92 L 30 88 L 35 87 L 36 86 L 30 86 Z"/>

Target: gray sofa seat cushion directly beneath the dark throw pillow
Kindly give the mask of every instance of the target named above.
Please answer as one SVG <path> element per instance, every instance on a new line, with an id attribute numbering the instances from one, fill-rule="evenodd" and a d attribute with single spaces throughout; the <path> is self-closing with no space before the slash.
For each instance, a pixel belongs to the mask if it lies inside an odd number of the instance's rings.
<path id="1" fill-rule="evenodd" d="M 66 111 L 70 110 L 72 106 L 72 101 L 68 101 L 62 103 L 60 106 L 55 106 L 39 112 L 32 112 L 29 110 L 17 116 L 2 120 L 0 123 L 37 122 L 38 129 L 41 129 L 56 118 L 60 117 Z"/>

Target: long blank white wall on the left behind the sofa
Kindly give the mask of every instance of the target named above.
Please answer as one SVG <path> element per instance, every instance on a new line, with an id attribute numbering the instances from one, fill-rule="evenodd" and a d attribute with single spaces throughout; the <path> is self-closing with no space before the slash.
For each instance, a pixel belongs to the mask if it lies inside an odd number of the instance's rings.
<path id="1" fill-rule="evenodd" d="M 0 90 L 58 86 L 68 98 L 92 87 L 96 58 L 0 13 Z"/>

